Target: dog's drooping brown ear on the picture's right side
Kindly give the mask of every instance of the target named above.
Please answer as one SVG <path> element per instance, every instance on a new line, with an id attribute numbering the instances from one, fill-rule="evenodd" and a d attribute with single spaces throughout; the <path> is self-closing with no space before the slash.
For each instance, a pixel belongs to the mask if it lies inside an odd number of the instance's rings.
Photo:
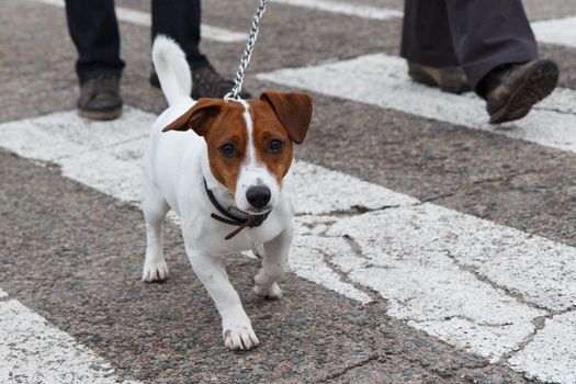
<path id="1" fill-rule="evenodd" d="M 292 142 L 302 144 L 310 126 L 312 98 L 296 92 L 264 92 L 260 100 L 272 106 Z"/>

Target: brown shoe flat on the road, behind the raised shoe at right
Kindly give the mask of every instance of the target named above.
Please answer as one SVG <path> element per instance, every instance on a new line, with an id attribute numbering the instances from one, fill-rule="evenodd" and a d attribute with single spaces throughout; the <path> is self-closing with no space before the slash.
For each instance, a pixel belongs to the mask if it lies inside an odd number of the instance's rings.
<path id="1" fill-rule="evenodd" d="M 408 61 L 408 76 L 416 82 L 440 88 L 443 92 L 468 92 L 470 86 L 460 67 L 430 67 Z"/>

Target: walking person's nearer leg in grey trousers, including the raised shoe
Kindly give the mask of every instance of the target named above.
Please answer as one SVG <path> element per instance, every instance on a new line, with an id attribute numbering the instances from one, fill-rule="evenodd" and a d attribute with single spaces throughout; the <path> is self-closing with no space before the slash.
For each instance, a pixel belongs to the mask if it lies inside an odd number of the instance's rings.
<path id="1" fill-rule="evenodd" d="M 490 123 L 526 116 L 556 87 L 558 68 L 539 59 L 521 0 L 444 0 L 454 50 Z"/>

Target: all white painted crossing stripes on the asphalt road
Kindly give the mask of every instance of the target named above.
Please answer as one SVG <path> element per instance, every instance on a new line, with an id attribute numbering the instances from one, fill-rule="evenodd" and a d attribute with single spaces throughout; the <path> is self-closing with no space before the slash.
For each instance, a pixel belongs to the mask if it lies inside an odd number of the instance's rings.
<path id="1" fill-rule="evenodd" d="M 377 20 L 402 16 L 330 0 L 274 1 Z M 118 18 L 149 25 L 148 15 L 120 9 Z M 541 41 L 569 47 L 576 41 L 572 23 L 567 18 L 533 25 Z M 476 97 L 411 83 L 405 63 L 391 55 L 253 78 L 576 153 L 572 89 L 556 90 L 527 118 L 495 127 Z M 139 158 L 154 118 L 135 106 L 106 123 L 56 112 L 0 124 L 0 147 L 57 163 L 64 177 L 137 204 Z M 388 315 L 528 379 L 576 383 L 576 248 L 312 162 L 295 161 L 292 173 L 298 201 L 290 261 L 295 274 L 362 304 L 383 298 Z M 15 352 L 14 345 L 21 346 Z M 0 359 L 2 383 L 117 382 L 110 364 L 1 290 L 0 357 L 8 357 Z"/>

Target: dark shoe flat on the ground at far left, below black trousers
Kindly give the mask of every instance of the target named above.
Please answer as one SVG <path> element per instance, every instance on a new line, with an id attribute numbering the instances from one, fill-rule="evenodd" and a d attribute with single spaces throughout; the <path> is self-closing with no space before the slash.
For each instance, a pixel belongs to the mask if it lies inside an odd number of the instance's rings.
<path id="1" fill-rule="evenodd" d="M 78 114 L 91 120 L 114 120 L 122 114 L 120 78 L 100 75 L 80 86 Z"/>

